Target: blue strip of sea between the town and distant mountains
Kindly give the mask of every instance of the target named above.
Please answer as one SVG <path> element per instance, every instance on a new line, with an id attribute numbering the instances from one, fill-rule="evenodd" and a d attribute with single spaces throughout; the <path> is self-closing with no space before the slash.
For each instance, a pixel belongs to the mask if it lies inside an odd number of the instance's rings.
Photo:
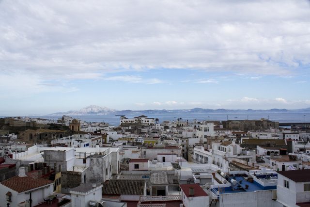
<path id="1" fill-rule="evenodd" d="M 127 118 L 139 116 L 142 114 L 122 114 Z M 209 113 L 209 114 L 189 114 L 189 113 L 178 113 L 178 114 L 143 114 L 149 118 L 158 118 L 159 122 L 163 121 L 174 121 L 182 118 L 183 121 L 188 120 L 192 122 L 194 119 L 198 121 L 225 121 L 229 120 L 244 120 L 244 119 L 269 119 L 270 121 L 278 121 L 279 123 L 308 123 L 310 122 L 310 113 Z M 306 116 L 305 116 L 306 115 Z M 2 116 L 1 118 L 3 118 Z M 5 116 L 8 117 L 8 116 Z M 31 118 L 45 118 L 45 119 L 58 119 L 62 115 L 55 116 L 28 116 Z M 113 114 L 110 115 L 72 115 L 72 117 L 80 119 L 86 122 L 105 122 L 112 126 L 118 126 L 120 124 L 120 117 Z"/>

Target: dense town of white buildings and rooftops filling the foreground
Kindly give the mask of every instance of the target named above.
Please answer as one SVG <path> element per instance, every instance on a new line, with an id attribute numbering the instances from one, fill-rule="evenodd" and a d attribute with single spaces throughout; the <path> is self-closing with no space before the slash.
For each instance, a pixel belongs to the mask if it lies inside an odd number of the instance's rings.
<path id="1" fill-rule="evenodd" d="M 0 119 L 0 206 L 307 207 L 310 125 Z"/>

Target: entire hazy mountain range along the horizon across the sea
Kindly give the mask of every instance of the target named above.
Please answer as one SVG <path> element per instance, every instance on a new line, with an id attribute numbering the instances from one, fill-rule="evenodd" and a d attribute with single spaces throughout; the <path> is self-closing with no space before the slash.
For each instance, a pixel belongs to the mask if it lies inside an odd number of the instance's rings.
<path id="1" fill-rule="evenodd" d="M 253 109 L 247 109 L 247 110 L 230 110 L 230 109 L 202 109 L 202 108 L 194 108 L 194 109 L 177 109 L 177 110 L 139 110 L 139 111 L 133 111 L 133 110 L 122 110 L 117 111 L 114 109 L 109 109 L 107 107 L 100 107 L 91 105 L 88 107 L 85 107 L 83 109 L 80 109 L 78 111 L 67 111 L 67 112 L 57 112 L 52 113 L 48 115 L 139 115 L 139 114 L 208 114 L 208 113 L 309 113 L 310 108 L 307 109 L 294 109 L 294 110 L 288 110 L 288 109 L 269 109 L 269 110 L 253 110 Z"/>

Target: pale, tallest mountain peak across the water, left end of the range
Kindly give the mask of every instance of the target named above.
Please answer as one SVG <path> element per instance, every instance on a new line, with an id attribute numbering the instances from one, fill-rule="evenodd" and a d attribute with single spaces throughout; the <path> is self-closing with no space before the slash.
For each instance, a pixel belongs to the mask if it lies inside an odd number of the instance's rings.
<path id="1" fill-rule="evenodd" d="M 83 109 L 80 109 L 78 111 L 57 112 L 48 115 L 107 115 L 115 111 L 116 110 L 109 109 L 107 107 L 91 105 L 84 107 Z"/>

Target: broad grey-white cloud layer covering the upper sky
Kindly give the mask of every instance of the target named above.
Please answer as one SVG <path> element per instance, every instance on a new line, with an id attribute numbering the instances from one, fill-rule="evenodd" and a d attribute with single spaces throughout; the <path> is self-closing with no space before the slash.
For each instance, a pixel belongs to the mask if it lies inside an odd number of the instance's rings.
<path id="1" fill-rule="evenodd" d="M 310 64 L 309 19 L 306 0 L 2 0 L 0 70 L 47 80 L 156 68 L 286 76 Z"/>

